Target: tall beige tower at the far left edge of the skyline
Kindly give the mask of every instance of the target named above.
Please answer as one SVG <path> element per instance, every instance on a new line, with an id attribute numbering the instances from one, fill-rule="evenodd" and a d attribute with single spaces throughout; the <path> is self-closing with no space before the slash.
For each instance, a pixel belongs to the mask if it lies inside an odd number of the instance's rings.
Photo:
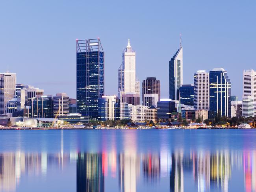
<path id="1" fill-rule="evenodd" d="M 0 73 L 0 114 L 7 113 L 7 102 L 15 98 L 15 73 Z"/>

